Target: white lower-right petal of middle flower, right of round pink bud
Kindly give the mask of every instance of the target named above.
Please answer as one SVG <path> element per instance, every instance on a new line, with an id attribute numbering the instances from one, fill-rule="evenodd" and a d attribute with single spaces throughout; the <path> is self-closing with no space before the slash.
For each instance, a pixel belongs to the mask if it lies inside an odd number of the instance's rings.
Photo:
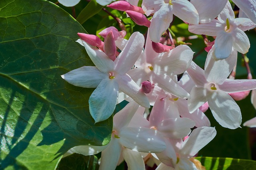
<path id="1" fill-rule="evenodd" d="M 152 74 L 152 83 L 156 84 L 160 88 L 166 90 L 167 92 L 180 97 L 188 98 L 189 94 L 181 88 L 174 80 L 172 80 L 167 75 Z"/>

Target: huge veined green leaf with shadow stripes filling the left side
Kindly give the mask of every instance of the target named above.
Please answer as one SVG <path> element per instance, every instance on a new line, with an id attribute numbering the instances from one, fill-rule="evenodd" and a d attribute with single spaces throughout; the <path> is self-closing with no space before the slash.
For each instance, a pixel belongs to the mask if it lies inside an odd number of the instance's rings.
<path id="1" fill-rule="evenodd" d="M 0 169 L 54 169 L 76 145 L 106 145 L 112 117 L 94 124 L 94 89 L 60 75 L 92 65 L 77 32 L 86 32 L 46 0 L 0 1 Z"/>

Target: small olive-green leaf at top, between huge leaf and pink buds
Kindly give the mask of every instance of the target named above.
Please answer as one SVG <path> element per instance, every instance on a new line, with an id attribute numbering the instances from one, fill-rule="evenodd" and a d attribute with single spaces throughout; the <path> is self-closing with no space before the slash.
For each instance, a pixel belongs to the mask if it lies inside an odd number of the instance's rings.
<path id="1" fill-rule="evenodd" d="M 80 12 L 80 14 L 77 16 L 76 20 L 83 24 L 86 20 L 94 16 L 95 14 L 98 14 L 103 6 L 98 4 L 96 0 L 91 0 L 88 5 Z"/>

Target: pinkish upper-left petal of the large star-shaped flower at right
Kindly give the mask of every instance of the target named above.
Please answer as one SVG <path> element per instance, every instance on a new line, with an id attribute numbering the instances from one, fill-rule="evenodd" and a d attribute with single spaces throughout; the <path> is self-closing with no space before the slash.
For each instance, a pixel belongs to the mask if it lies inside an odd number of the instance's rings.
<path id="1" fill-rule="evenodd" d="M 204 87 L 204 84 L 207 83 L 207 80 L 204 76 L 204 70 L 196 63 L 194 63 L 194 61 L 191 62 L 190 66 L 187 69 L 187 72 L 197 86 Z"/>

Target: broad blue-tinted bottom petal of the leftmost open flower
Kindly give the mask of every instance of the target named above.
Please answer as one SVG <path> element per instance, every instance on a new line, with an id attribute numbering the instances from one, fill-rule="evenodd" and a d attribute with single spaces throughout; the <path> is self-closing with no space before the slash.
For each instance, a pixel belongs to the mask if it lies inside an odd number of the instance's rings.
<path id="1" fill-rule="evenodd" d="M 108 119 L 114 112 L 118 97 L 118 83 L 103 79 L 89 98 L 89 110 L 95 123 Z"/>

